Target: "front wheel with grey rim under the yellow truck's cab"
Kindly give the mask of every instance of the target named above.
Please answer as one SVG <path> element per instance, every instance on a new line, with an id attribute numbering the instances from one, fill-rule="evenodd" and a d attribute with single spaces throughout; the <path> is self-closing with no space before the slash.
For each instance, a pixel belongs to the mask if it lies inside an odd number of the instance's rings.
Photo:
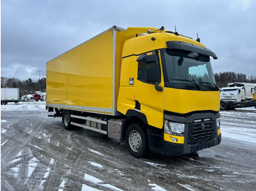
<path id="1" fill-rule="evenodd" d="M 146 133 L 138 124 L 129 125 L 126 133 L 129 153 L 136 157 L 145 157 L 148 153 L 148 141 Z"/>

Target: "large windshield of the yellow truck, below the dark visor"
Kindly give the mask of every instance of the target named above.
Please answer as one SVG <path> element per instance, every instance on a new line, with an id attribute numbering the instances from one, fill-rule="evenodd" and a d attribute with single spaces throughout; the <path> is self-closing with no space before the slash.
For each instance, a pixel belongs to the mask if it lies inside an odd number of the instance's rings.
<path id="1" fill-rule="evenodd" d="M 165 85 L 187 90 L 219 90 L 210 58 L 197 52 L 165 50 Z"/>

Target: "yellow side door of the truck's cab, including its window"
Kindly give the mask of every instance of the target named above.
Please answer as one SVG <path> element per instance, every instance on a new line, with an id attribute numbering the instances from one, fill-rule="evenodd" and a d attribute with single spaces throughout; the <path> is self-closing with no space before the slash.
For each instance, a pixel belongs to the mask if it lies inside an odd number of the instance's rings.
<path id="1" fill-rule="evenodd" d="M 135 110 L 145 114 L 148 125 L 156 128 L 162 128 L 164 114 L 164 80 L 159 58 L 154 52 L 140 55 L 135 79 Z"/>

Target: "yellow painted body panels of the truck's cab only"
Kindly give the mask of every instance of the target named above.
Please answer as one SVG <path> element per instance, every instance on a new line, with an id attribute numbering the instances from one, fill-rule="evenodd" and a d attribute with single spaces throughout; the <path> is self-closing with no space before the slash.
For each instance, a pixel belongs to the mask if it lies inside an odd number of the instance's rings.
<path id="1" fill-rule="evenodd" d="M 146 28 L 138 28 L 136 32 L 136 28 L 128 29 L 129 35 L 142 33 L 146 30 Z M 154 29 L 155 28 L 151 28 L 149 30 Z M 154 41 L 151 40 L 152 37 L 155 38 Z M 203 110 L 219 111 L 219 91 L 204 92 L 165 87 L 164 90 L 160 92 L 155 89 L 154 85 L 140 82 L 137 79 L 138 62 L 136 59 L 138 56 L 145 52 L 149 55 L 152 50 L 167 48 L 167 41 L 182 41 L 204 47 L 203 44 L 184 36 L 159 32 L 128 39 L 124 42 L 122 52 L 123 60 L 121 64 L 118 112 L 126 114 L 128 109 L 135 108 L 135 100 L 139 101 L 140 112 L 146 115 L 148 124 L 156 128 L 163 127 L 163 115 L 165 110 L 181 114 Z M 134 78 L 134 85 L 129 85 L 129 78 Z M 163 74 L 161 74 L 161 83 L 159 86 L 164 87 Z M 135 92 L 133 93 L 132 90 L 135 90 Z M 132 100 L 132 98 L 134 98 L 134 100 Z"/>

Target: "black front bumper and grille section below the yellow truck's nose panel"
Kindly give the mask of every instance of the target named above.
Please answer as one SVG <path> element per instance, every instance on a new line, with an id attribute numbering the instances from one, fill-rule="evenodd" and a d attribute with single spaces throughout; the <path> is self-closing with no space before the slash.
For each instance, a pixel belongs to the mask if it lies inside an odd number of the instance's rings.
<path id="1" fill-rule="evenodd" d="M 162 152 L 170 156 L 185 155 L 219 144 L 222 140 L 216 122 L 219 117 L 219 112 L 198 112 L 187 117 L 165 114 L 166 120 L 184 123 L 185 130 L 184 141 L 181 140 L 181 136 L 174 136 L 177 141 L 173 142 L 167 139 L 168 136 L 164 133 Z"/>

